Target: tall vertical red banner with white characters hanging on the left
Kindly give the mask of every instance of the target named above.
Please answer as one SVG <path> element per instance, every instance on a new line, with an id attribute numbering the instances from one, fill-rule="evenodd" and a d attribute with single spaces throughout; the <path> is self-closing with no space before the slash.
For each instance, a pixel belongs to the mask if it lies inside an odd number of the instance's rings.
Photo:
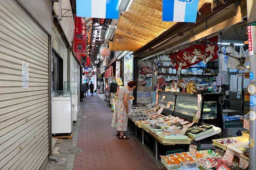
<path id="1" fill-rule="evenodd" d="M 86 26 L 82 17 L 75 15 L 75 31 L 73 38 L 73 53 L 86 55 Z M 76 56 L 81 61 L 81 56 Z M 80 59 L 79 59 L 80 58 Z"/>

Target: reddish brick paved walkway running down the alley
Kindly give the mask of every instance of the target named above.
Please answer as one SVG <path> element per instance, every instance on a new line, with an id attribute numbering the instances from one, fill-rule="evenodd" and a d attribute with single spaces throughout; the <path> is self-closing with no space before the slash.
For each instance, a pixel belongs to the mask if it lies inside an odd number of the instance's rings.
<path id="1" fill-rule="evenodd" d="M 112 112 L 96 95 L 81 103 L 81 119 L 77 147 L 84 151 L 76 154 L 74 170 L 159 170 L 156 163 L 131 136 L 129 140 L 116 137 L 112 128 Z"/>

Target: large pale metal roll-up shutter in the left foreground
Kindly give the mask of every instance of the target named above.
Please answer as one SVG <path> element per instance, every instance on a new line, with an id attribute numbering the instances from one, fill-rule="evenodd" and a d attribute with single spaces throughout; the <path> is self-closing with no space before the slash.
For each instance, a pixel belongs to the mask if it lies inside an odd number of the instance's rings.
<path id="1" fill-rule="evenodd" d="M 49 154 L 48 62 L 48 34 L 15 0 L 1 0 L 0 169 L 39 169 Z"/>

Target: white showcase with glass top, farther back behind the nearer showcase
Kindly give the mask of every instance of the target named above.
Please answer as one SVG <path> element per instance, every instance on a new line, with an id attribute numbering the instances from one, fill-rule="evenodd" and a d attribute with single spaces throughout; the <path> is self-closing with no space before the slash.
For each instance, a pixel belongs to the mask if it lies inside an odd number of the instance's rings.
<path id="1" fill-rule="evenodd" d="M 64 82 L 64 90 L 70 90 L 72 94 L 72 112 L 73 121 L 77 120 L 77 112 L 79 110 L 78 101 L 78 82 Z"/>

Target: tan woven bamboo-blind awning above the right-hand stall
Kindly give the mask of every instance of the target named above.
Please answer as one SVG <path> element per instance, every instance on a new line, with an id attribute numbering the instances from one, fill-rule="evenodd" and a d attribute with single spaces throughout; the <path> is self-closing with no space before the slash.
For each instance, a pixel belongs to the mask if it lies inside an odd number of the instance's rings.
<path id="1" fill-rule="evenodd" d="M 198 8 L 204 0 L 199 1 Z M 175 25 L 162 21 L 162 0 L 136 0 L 118 20 L 111 51 L 135 51 Z"/>

